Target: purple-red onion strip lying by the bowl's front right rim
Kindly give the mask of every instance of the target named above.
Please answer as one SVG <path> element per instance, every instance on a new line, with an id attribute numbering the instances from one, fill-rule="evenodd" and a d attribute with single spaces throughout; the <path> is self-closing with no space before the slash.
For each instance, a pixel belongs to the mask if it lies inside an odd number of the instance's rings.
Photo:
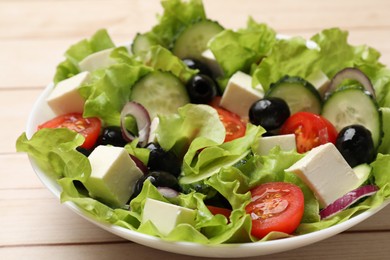
<path id="1" fill-rule="evenodd" d="M 340 211 L 343 211 L 359 199 L 371 196 L 375 194 L 378 190 L 379 188 L 376 185 L 366 185 L 348 192 L 347 194 L 335 200 L 333 203 L 329 204 L 326 208 L 321 210 L 321 219 L 329 218 L 339 213 Z"/>

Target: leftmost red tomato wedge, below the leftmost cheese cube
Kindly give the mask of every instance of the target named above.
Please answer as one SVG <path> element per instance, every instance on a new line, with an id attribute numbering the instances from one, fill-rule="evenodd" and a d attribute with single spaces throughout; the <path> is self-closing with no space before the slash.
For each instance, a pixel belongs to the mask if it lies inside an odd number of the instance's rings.
<path id="1" fill-rule="evenodd" d="M 99 137 L 101 122 L 96 117 L 83 118 L 80 113 L 69 113 L 57 116 L 38 126 L 38 129 L 42 128 L 68 128 L 75 131 L 85 138 L 81 147 L 90 149 Z"/>

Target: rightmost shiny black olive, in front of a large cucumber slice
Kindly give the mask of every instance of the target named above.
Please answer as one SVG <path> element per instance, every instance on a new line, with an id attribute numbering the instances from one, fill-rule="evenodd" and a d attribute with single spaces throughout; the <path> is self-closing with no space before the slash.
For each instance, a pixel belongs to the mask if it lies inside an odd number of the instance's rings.
<path id="1" fill-rule="evenodd" d="M 339 132 L 336 147 L 351 167 L 374 160 L 371 132 L 362 125 L 346 126 Z"/>

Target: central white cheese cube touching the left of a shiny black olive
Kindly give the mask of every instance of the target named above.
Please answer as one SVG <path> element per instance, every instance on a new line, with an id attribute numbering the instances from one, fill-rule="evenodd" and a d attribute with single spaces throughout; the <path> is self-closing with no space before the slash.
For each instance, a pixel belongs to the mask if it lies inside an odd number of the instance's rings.
<path id="1" fill-rule="evenodd" d="M 263 97 L 264 91 L 260 86 L 252 87 L 252 77 L 238 71 L 229 79 L 220 106 L 236 113 L 243 119 L 248 119 L 249 108 Z"/>

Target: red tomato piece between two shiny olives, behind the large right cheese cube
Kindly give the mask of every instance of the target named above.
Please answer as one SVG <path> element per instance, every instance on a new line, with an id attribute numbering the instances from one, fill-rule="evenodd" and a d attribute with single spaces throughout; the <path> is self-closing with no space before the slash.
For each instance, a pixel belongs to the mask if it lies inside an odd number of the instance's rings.
<path id="1" fill-rule="evenodd" d="M 305 153 L 325 143 L 336 143 L 337 130 L 326 118 L 298 112 L 290 116 L 280 129 L 281 134 L 295 134 L 297 151 Z"/>

